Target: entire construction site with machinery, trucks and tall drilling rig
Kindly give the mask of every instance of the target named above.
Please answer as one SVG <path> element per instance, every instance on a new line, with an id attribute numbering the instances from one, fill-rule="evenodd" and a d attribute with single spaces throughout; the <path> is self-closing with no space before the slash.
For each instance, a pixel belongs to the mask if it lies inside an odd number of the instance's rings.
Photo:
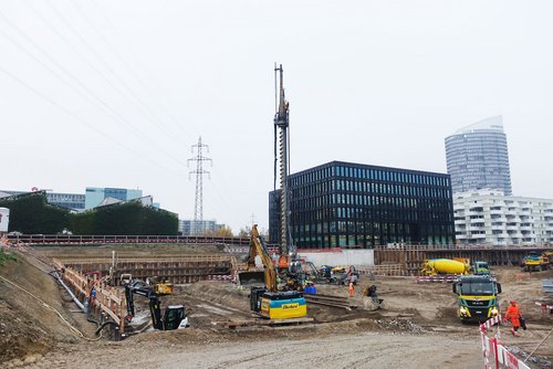
<path id="1" fill-rule="evenodd" d="M 551 247 L 295 246 L 276 74 L 279 242 L 257 224 L 249 239 L 3 239 L 2 368 L 553 366 Z M 510 302 L 526 329 L 502 321 Z"/>

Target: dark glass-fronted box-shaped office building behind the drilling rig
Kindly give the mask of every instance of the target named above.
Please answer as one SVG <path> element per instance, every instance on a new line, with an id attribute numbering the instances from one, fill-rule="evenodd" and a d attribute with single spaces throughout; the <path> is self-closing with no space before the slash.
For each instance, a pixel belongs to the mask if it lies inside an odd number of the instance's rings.
<path id="1" fill-rule="evenodd" d="M 298 247 L 455 242 L 448 175 L 332 161 L 289 179 Z M 269 193 L 270 242 L 280 242 L 279 197 Z"/>

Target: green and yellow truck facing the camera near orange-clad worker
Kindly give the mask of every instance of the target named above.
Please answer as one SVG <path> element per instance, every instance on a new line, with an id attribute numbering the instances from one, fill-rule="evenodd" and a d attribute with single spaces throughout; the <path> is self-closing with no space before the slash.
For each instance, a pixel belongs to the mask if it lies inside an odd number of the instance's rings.
<path id="1" fill-rule="evenodd" d="M 458 315 L 462 323 L 483 323 L 499 314 L 501 284 L 490 275 L 463 275 L 452 289 L 459 296 Z"/>

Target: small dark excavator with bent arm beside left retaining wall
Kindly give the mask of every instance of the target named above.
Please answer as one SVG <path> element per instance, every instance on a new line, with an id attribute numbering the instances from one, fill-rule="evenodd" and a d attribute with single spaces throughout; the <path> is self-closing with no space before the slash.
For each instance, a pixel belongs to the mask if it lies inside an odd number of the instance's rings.
<path id="1" fill-rule="evenodd" d="M 161 301 L 159 296 L 171 293 L 173 288 L 156 288 L 155 285 L 146 285 L 139 280 L 125 284 L 125 297 L 127 301 L 127 316 L 125 319 L 129 323 L 135 316 L 134 295 L 136 294 L 149 299 L 149 313 L 155 329 L 174 330 L 189 327 L 184 305 L 169 305 L 161 316 Z"/>

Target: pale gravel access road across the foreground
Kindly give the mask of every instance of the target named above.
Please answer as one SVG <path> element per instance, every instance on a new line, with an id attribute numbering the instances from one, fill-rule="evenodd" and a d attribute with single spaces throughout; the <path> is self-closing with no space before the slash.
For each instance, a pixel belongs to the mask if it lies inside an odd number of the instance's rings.
<path id="1" fill-rule="evenodd" d="M 479 368 L 479 340 L 462 335 L 363 331 L 147 333 L 124 342 L 67 346 L 30 368 Z M 280 330 L 280 331 L 279 331 Z M 165 337 L 161 337 L 164 335 Z M 199 337 L 201 336 L 201 338 Z M 252 337 L 253 336 L 253 337 Z M 275 337 L 278 336 L 278 337 Z M 292 336 L 292 337 L 291 337 Z"/>

